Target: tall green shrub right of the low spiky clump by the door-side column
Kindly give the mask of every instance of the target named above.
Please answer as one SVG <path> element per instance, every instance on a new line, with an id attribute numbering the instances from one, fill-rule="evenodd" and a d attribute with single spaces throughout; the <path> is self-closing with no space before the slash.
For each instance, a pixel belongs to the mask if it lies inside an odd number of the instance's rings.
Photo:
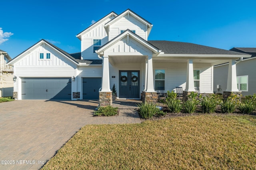
<path id="1" fill-rule="evenodd" d="M 180 100 L 177 99 L 177 94 L 174 93 L 174 91 L 172 92 L 167 91 L 165 104 L 167 105 L 171 113 L 180 113 L 182 109 L 182 104 Z"/>

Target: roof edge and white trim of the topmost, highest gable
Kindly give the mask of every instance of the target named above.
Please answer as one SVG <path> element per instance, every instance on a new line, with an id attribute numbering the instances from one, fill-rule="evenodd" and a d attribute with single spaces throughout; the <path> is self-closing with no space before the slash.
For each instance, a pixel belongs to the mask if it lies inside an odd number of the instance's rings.
<path id="1" fill-rule="evenodd" d="M 130 9 L 127 9 L 126 11 L 122 12 L 121 14 L 119 14 L 116 18 L 108 21 L 107 23 L 105 23 L 105 29 L 108 29 L 108 26 L 111 25 L 112 23 L 116 22 L 117 20 L 120 20 L 121 18 L 123 18 L 126 14 L 132 15 L 134 18 L 136 18 L 137 20 L 141 21 L 142 23 L 144 23 L 145 25 L 148 25 L 148 35 L 152 29 L 152 24 L 145 20 L 144 18 L 142 18 L 141 16 L 139 16 L 138 14 L 136 14 L 135 12 L 133 12 Z M 108 31 L 107 31 L 108 32 Z"/>

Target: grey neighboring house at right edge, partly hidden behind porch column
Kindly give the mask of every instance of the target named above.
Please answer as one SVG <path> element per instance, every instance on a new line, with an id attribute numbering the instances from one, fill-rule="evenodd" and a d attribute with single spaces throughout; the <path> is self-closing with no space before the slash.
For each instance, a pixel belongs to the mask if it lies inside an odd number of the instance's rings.
<path id="1" fill-rule="evenodd" d="M 236 61 L 237 88 L 243 96 L 256 94 L 256 48 L 234 47 L 230 51 L 247 53 L 250 58 Z M 214 66 L 214 92 L 223 93 L 227 88 L 228 64 Z M 217 85 L 219 88 L 217 88 Z"/>

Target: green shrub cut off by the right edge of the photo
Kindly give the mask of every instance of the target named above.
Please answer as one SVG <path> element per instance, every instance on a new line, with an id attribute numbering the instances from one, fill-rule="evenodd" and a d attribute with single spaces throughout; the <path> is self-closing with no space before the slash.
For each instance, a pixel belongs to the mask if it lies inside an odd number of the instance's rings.
<path id="1" fill-rule="evenodd" d="M 245 96 L 244 103 L 238 105 L 238 109 L 241 113 L 251 114 L 256 109 L 256 95 Z"/>

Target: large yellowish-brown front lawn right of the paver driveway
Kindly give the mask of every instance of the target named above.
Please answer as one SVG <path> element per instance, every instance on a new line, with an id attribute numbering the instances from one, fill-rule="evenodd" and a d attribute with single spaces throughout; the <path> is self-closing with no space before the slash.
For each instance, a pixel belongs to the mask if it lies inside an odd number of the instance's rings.
<path id="1" fill-rule="evenodd" d="M 42 169 L 256 169 L 256 117 L 86 125 Z"/>

